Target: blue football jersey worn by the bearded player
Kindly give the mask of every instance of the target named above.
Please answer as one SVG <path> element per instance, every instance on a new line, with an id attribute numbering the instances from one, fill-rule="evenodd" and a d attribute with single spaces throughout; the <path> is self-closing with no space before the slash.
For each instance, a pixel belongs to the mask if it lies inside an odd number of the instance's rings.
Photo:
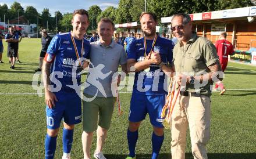
<path id="1" fill-rule="evenodd" d="M 153 40 L 146 40 L 146 43 L 146 55 L 148 55 L 152 48 Z M 172 41 L 158 37 L 152 50 L 154 50 L 154 52 L 159 52 L 162 62 L 168 64 L 172 63 L 173 46 Z M 145 59 L 144 52 L 144 38 L 136 39 L 131 42 L 130 48 L 127 52 L 127 59 L 135 59 L 136 62 L 143 61 Z M 167 81 L 167 76 L 165 77 L 165 73 L 163 73 L 161 68 L 159 68 L 156 64 L 151 64 L 150 71 L 145 72 L 142 70 L 135 74 L 133 92 L 143 95 L 167 94 Z"/>

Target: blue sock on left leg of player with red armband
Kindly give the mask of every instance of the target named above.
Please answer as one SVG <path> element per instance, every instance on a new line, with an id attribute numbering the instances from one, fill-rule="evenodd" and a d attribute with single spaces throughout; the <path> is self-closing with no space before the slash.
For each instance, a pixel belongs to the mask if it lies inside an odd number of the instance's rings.
<path id="1" fill-rule="evenodd" d="M 51 137 L 48 134 L 45 137 L 45 159 L 53 159 L 56 150 L 57 136 Z"/>

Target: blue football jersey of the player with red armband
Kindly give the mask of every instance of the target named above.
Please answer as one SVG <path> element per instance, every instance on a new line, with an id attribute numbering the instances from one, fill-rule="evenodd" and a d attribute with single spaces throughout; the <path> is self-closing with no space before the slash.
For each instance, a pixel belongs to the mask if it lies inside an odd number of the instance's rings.
<path id="1" fill-rule="evenodd" d="M 65 92 L 75 92 L 73 88 L 67 86 L 73 85 L 72 78 L 77 81 L 77 85 L 80 85 L 81 82 L 81 75 L 78 74 L 80 72 L 79 62 L 77 60 L 76 52 L 70 35 L 70 32 L 55 35 L 48 46 L 47 56 L 45 57 L 47 61 L 51 61 L 51 58 L 55 57 L 51 66 L 51 74 L 53 74 L 51 77 L 51 84 L 53 84 L 55 88 L 56 86 L 59 86 L 59 82 L 61 82 L 61 91 Z M 84 38 L 83 41 L 82 57 L 88 59 L 90 57 L 89 53 L 91 45 L 86 38 Z M 74 38 L 74 42 L 76 43 L 77 51 L 81 57 L 82 40 Z M 76 60 L 78 63 L 75 63 Z M 76 72 L 72 73 L 72 68 L 74 66 L 78 67 Z M 81 66 L 83 66 L 83 63 Z"/>

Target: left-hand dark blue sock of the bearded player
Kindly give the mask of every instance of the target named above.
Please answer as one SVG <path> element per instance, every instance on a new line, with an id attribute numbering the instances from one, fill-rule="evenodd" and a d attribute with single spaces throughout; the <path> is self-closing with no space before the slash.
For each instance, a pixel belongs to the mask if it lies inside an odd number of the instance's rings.
<path id="1" fill-rule="evenodd" d="M 138 131 L 131 132 L 129 129 L 127 129 L 127 140 L 130 151 L 129 156 L 135 157 L 135 147 L 138 140 Z"/>

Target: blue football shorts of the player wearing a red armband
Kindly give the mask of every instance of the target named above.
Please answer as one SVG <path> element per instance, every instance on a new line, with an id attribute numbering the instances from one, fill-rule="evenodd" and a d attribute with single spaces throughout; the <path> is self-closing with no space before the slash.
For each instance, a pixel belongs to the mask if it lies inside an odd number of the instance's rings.
<path id="1" fill-rule="evenodd" d="M 70 95 L 71 94 L 71 95 Z M 47 128 L 57 129 L 61 125 L 62 118 L 66 124 L 73 125 L 81 122 L 81 99 L 72 93 L 55 93 L 58 102 L 55 107 L 49 109 L 46 106 Z"/>

